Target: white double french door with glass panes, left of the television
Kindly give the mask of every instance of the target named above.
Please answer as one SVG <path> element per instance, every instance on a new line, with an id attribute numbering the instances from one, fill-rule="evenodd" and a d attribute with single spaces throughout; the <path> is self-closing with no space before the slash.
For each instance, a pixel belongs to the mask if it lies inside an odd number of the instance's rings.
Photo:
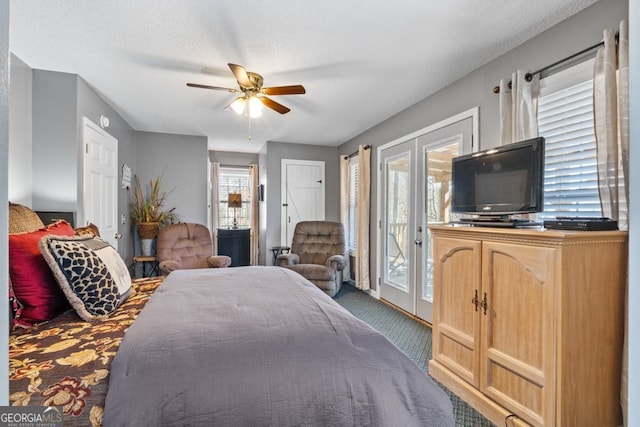
<path id="1" fill-rule="evenodd" d="M 474 117 L 381 147 L 380 296 L 427 322 L 433 279 L 429 225 L 450 221 L 451 159 L 471 152 Z"/>

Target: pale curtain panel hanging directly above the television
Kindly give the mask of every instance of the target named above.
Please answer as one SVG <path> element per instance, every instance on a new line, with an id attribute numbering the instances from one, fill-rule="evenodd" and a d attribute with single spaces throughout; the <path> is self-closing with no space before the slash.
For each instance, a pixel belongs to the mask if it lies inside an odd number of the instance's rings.
<path id="1" fill-rule="evenodd" d="M 500 144 L 510 144 L 538 136 L 538 92 L 540 76 L 531 81 L 518 70 L 511 81 L 500 80 Z"/>

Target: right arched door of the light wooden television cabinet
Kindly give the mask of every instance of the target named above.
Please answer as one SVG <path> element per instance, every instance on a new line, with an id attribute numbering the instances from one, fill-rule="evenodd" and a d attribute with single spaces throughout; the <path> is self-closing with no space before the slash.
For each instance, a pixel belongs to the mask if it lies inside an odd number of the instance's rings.
<path id="1" fill-rule="evenodd" d="M 484 242 L 482 251 L 480 389 L 532 425 L 553 425 L 556 249 Z"/>

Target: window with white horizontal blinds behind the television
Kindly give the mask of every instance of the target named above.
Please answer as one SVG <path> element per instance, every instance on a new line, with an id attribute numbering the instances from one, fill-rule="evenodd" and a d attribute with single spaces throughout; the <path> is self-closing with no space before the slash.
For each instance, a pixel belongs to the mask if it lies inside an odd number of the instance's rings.
<path id="1" fill-rule="evenodd" d="M 540 82 L 538 130 L 545 138 L 544 212 L 602 216 L 593 130 L 593 60 Z"/>

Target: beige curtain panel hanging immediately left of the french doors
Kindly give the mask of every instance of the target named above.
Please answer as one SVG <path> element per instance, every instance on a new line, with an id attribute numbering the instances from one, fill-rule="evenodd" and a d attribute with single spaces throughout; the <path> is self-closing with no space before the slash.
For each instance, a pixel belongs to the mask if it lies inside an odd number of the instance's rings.
<path id="1" fill-rule="evenodd" d="M 371 288 L 369 279 L 369 213 L 371 205 L 371 148 L 358 147 L 358 202 L 356 209 L 356 287 Z"/>

